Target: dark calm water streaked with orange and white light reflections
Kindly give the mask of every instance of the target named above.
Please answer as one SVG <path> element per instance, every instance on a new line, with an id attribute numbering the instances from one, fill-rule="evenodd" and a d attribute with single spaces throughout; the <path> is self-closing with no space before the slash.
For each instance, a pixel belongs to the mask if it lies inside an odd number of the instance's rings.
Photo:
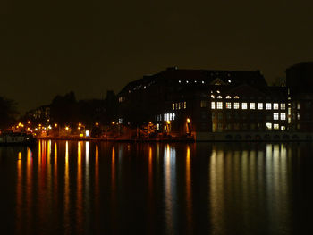
<path id="1" fill-rule="evenodd" d="M 1 234 L 313 234 L 311 144 L 0 147 Z"/>

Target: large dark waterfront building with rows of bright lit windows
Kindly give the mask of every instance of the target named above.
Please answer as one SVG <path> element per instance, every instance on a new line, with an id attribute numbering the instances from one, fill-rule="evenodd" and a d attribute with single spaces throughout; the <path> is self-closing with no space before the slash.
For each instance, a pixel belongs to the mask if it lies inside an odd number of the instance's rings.
<path id="1" fill-rule="evenodd" d="M 267 86 L 259 71 L 169 68 L 123 88 L 119 122 L 154 122 L 159 132 L 198 139 L 214 132 L 285 131 L 287 97 L 287 88 Z"/>

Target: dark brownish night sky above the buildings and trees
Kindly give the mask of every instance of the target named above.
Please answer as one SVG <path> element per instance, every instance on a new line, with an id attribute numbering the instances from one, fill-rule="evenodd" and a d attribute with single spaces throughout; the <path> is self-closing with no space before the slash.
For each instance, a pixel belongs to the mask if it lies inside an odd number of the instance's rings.
<path id="1" fill-rule="evenodd" d="M 0 96 L 20 110 L 120 91 L 166 67 L 261 70 L 313 61 L 313 1 L 1 0 Z"/>

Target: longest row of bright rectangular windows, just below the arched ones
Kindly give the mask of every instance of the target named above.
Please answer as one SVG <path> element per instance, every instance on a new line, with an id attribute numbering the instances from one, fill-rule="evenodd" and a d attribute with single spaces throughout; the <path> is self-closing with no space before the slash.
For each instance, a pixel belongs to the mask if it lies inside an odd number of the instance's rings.
<path id="1" fill-rule="evenodd" d="M 224 104 L 223 104 L 224 103 Z M 247 103 L 247 102 L 211 102 L 211 109 L 258 109 L 263 110 L 263 103 Z M 257 106 L 256 106 L 257 105 Z M 279 104 L 278 103 L 266 103 L 266 110 L 272 110 L 272 106 L 274 110 L 279 110 Z M 201 101 L 201 107 L 202 107 L 202 101 Z M 286 104 L 281 103 L 280 109 L 285 110 Z"/>

